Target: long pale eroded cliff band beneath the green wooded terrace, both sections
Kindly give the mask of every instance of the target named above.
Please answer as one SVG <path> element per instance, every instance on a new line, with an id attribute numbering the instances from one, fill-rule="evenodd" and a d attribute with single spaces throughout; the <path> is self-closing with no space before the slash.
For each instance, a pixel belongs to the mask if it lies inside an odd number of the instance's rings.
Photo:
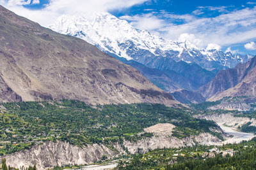
<path id="1" fill-rule="evenodd" d="M 138 150 L 141 153 L 145 153 L 148 150 L 157 148 L 179 148 L 182 146 L 195 146 L 196 144 L 222 145 L 220 139 L 208 133 L 184 139 L 171 137 L 169 134 L 155 134 L 152 138 L 143 138 L 136 143 L 124 141 L 123 145 L 129 153 L 133 154 L 137 153 Z M 29 167 L 36 164 L 36 167 L 41 170 L 67 164 L 92 164 L 101 160 L 104 155 L 111 158 L 127 154 L 118 143 L 113 144 L 113 148 L 115 148 L 115 151 L 105 145 L 98 144 L 79 148 L 78 146 L 57 141 L 56 143 L 47 142 L 43 145 L 33 146 L 30 150 L 4 155 L 3 157 L 6 158 L 7 164 L 12 167 Z"/>

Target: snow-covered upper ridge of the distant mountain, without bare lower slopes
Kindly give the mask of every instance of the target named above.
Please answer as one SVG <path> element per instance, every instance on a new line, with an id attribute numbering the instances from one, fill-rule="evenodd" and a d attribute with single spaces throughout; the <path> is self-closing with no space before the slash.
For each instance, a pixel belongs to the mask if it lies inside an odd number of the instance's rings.
<path id="1" fill-rule="evenodd" d="M 164 39 L 148 31 L 138 30 L 126 20 L 121 20 L 110 13 L 94 13 L 86 17 L 63 15 L 49 28 L 61 34 L 84 39 L 104 52 L 128 60 L 134 59 L 143 64 L 155 57 L 171 57 L 176 61 L 196 62 L 206 69 L 213 69 L 205 62 L 234 67 L 237 63 L 244 63 L 252 57 L 205 50 L 189 41 Z"/>

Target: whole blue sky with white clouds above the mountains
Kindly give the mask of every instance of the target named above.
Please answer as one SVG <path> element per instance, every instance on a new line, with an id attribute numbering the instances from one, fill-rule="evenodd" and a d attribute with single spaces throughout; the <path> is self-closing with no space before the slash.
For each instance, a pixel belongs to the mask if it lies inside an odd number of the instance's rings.
<path id="1" fill-rule="evenodd" d="M 166 39 L 256 55 L 256 0 L 0 0 L 0 4 L 44 26 L 63 14 L 108 11 Z"/>

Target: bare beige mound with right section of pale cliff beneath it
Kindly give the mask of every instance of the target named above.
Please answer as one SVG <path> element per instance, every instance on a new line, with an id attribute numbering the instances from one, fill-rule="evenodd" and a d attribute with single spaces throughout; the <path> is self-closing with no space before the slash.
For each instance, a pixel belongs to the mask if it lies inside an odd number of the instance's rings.
<path id="1" fill-rule="evenodd" d="M 221 140 L 209 133 L 202 133 L 198 136 L 189 136 L 187 138 L 176 138 L 172 136 L 175 125 L 172 124 L 157 124 L 144 129 L 145 132 L 154 134 L 152 138 L 143 138 L 136 143 L 124 141 L 124 146 L 130 153 L 140 152 L 145 153 L 148 150 L 157 148 L 179 148 L 183 146 L 195 145 L 221 145 Z M 215 129 L 214 131 L 218 131 Z"/>

